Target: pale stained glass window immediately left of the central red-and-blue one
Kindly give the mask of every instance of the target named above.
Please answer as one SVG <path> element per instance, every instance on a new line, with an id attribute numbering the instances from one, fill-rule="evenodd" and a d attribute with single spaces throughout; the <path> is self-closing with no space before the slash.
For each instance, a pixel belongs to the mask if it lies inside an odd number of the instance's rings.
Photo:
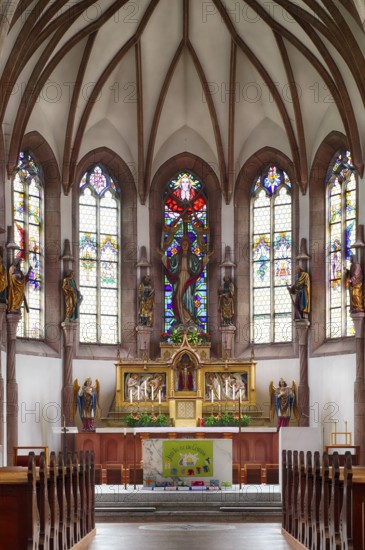
<path id="1" fill-rule="evenodd" d="M 80 182 L 80 341 L 118 342 L 120 190 L 108 172 L 94 166 Z"/>

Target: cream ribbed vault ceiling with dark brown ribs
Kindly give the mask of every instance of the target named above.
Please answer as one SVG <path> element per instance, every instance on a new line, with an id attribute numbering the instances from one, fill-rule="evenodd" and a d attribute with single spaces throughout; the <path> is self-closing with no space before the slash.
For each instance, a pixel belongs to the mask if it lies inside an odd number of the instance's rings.
<path id="1" fill-rule="evenodd" d="M 365 39 L 352 0 L 2 4 L 9 174 L 32 130 L 52 147 L 66 193 L 77 162 L 101 146 L 129 165 L 142 202 L 182 151 L 213 167 L 226 201 L 265 146 L 292 159 L 305 192 L 333 130 L 363 171 Z"/>

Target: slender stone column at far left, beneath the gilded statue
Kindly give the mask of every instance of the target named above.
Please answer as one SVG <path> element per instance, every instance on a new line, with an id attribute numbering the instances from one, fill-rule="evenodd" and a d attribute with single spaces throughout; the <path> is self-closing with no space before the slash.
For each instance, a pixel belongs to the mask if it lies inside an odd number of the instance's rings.
<path id="1" fill-rule="evenodd" d="M 18 446 L 18 384 L 15 370 L 16 331 L 21 313 L 8 313 L 6 351 L 6 441 L 7 465 L 13 465 L 13 447 Z"/>

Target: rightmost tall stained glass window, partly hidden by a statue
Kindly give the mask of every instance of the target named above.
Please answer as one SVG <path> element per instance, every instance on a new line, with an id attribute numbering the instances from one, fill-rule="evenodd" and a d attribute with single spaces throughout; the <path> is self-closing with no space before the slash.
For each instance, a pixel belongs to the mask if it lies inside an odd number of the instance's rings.
<path id="1" fill-rule="evenodd" d="M 327 174 L 327 338 L 354 336 L 344 268 L 356 240 L 356 176 L 350 151 L 339 151 Z"/>

